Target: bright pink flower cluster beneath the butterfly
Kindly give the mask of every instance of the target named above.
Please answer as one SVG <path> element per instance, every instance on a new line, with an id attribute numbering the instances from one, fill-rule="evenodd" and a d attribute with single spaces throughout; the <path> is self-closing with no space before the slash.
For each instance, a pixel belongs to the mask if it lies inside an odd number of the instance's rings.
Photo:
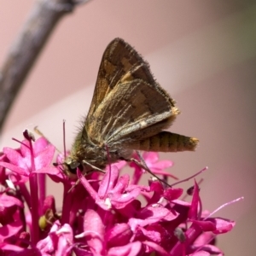
<path id="1" fill-rule="evenodd" d="M 139 184 L 144 171 L 135 164 L 133 175 L 120 175 L 127 164 L 120 161 L 104 175 L 78 170 L 74 183 L 52 166 L 53 145 L 24 136 L 20 148 L 3 148 L 0 156 L 0 255 L 223 255 L 215 237 L 235 223 L 202 211 L 196 182 L 191 201 L 183 201 L 183 189 L 156 179 Z M 171 176 L 165 172 L 171 161 L 156 153 L 143 158 L 155 174 Z M 46 195 L 46 176 L 63 184 L 61 209 Z"/>

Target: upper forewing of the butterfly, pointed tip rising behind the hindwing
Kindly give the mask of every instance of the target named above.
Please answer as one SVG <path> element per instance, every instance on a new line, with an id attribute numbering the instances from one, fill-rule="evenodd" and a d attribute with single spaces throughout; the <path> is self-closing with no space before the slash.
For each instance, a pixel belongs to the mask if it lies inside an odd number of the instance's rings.
<path id="1" fill-rule="evenodd" d="M 131 71 L 132 77 L 129 77 Z M 148 63 L 143 60 L 143 57 L 123 39 L 115 38 L 108 44 L 102 56 L 96 87 L 86 119 L 87 127 L 91 124 L 93 113 L 102 100 L 122 79 L 143 79 L 148 84 L 155 84 Z"/>

